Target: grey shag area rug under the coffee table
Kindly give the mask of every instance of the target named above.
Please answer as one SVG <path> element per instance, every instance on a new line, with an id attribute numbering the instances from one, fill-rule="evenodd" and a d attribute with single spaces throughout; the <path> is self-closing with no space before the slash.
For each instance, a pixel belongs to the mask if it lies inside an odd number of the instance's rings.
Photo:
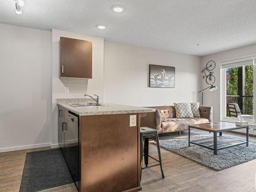
<path id="1" fill-rule="evenodd" d="M 210 134 L 195 135 L 190 137 L 190 141 L 209 137 L 213 136 Z M 240 137 L 227 135 L 225 135 L 225 137 L 245 141 L 245 139 Z M 207 148 L 197 146 L 194 144 L 191 144 L 191 146 L 189 147 L 188 137 L 163 140 L 159 141 L 159 143 L 161 147 L 166 148 L 166 150 L 168 151 L 184 156 L 202 165 L 213 168 L 217 171 L 256 159 L 256 141 L 251 140 L 249 141 L 248 147 L 246 147 L 246 144 L 243 144 L 239 146 L 226 148 L 224 150 L 218 151 L 218 155 L 214 155 L 214 152 L 212 150 L 208 150 Z"/>

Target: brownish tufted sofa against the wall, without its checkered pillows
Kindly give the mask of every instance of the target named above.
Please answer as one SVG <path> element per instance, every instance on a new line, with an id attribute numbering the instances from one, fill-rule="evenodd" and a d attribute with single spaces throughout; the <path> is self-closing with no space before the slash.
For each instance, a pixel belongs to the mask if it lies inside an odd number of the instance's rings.
<path id="1" fill-rule="evenodd" d="M 155 129 L 158 133 L 170 133 L 188 130 L 189 124 L 200 124 L 212 122 L 212 107 L 199 106 L 200 117 L 194 118 L 176 118 L 174 106 L 150 106 L 149 108 L 156 109 Z"/>

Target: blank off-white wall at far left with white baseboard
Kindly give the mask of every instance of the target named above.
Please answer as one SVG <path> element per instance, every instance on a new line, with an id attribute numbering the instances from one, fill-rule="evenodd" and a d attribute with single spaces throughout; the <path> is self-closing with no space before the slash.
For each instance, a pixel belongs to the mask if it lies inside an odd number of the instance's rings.
<path id="1" fill-rule="evenodd" d="M 0 24 L 0 152 L 51 143 L 50 31 Z"/>

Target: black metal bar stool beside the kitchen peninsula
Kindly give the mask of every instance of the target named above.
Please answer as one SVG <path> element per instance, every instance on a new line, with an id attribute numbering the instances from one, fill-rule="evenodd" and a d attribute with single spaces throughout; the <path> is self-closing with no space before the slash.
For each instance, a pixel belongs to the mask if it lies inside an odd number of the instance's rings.
<path id="1" fill-rule="evenodd" d="M 158 151 L 158 160 L 155 159 L 154 157 L 151 157 L 150 155 L 148 155 L 148 139 L 156 140 L 157 151 Z M 144 154 L 145 167 L 142 167 L 143 154 Z M 148 166 L 148 157 L 156 160 L 159 163 Z M 157 130 L 152 129 L 150 127 L 146 127 L 146 126 L 140 127 L 140 180 L 141 180 L 142 169 L 150 168 L 150 167 L 154 167 L 154 166 L 158 166 L 158 165 L 160 165 L 162 178 L 164 178 Z"/>

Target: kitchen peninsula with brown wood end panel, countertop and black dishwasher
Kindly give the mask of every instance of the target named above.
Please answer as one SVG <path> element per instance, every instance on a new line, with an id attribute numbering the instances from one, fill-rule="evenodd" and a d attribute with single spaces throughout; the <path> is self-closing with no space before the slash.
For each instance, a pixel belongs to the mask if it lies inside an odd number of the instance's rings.
<path id="1" fill-rule="evenodd" d="M 57 99 L 58 141 L 78 191 L 141 190 L 140 120 L 155 109 L 71 105 L 91 101 Z"/>

